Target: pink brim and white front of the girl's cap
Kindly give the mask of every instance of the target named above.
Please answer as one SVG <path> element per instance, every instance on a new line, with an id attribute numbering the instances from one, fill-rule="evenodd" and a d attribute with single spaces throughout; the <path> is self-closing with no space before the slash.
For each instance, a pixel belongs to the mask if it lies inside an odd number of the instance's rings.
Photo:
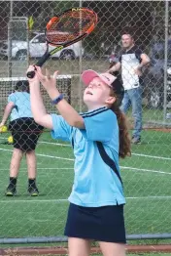
<path id="1" fill-rule="evenodd" d="M 116 76 L 110 73 L 97 73 L 94 70 L 88 69 L 85 70 L 82 74 L 82 81 L 84 82 L 85 86 L 87 86 L 93 78 L 99 77 L 105 84 L 112 87 L 112 83 L 117 79 Z"/>

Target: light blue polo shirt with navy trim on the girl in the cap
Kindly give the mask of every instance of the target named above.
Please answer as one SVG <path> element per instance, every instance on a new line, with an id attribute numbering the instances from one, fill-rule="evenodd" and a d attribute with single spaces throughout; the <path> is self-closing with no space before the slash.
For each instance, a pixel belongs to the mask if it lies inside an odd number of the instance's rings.
<path id="1" fill-rule="evenodd" d="M 120 180 L 101 158 L 96 141 L 102 142 L 119 167 L 119 126 L 116 114 L 100 107 L 82 114 L 85 129 L 71 127 L 62 116 L 51 114 L 53 139 L 74 142 L 75 177 L 69 201 L 86 207 L 124 204 Z"/>

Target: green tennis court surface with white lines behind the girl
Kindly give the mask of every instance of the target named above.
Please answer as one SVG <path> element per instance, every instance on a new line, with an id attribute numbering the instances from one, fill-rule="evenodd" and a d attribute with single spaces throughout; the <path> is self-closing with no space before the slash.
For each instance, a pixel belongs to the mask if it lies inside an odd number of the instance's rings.
<path id="1" fill-rule="evenodd" d="M 8 134 L 5 135 L 8 137 Z M 3 141 L 4 134 L 0 135 Z M 131 234 L 169 233 L 171 223 L 171 134 L 143 131 L 142 145 L 120 160 L 126 196 L 126 231 Z M 17 196 L 4 195 L 9 180 L 13 146 L 0 145 L 1 237 L 63 235 L 68 195 L 74 177 L 70 145 L 51 139 L 45 132 L 37 148 L 38 197 L 27 194 L 24 159 L 17 181 Z"/>

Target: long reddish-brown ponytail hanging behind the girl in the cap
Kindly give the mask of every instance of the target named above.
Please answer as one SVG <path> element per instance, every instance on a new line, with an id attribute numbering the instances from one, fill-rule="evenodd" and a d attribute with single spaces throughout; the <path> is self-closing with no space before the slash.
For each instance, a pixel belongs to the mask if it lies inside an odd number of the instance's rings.
<path id="1" fill-rule="evenodd" d="M 124 113 L 120 110 L 120 99 L 118 99 L 117 95 L 114 94 L 114 91 L 111 90 L 112 96 L 116 97 L 116 102 L 110 107 L 113 112 L 117 115 L 118 123 L 119 123 L 119 129 L 120 129 L 120 150 L 119 150 L 119 156 L 121 158 L 124 158 L 126 156 L 131 155 L 131 143 L 130 143 L 130 136 L 128 131 L 128 125 L 126 116 Z"/>

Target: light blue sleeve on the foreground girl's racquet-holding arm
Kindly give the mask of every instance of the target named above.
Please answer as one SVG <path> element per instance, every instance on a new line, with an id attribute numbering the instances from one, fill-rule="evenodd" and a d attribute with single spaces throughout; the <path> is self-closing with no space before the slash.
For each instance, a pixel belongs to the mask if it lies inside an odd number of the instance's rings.
<path id="1" fill-rule="evenodd" d="M 51 137 L 62 141 L 71 141 L 72 127 L 65 121 L 61 115 L 51 114 L 52 130 Z"/>

